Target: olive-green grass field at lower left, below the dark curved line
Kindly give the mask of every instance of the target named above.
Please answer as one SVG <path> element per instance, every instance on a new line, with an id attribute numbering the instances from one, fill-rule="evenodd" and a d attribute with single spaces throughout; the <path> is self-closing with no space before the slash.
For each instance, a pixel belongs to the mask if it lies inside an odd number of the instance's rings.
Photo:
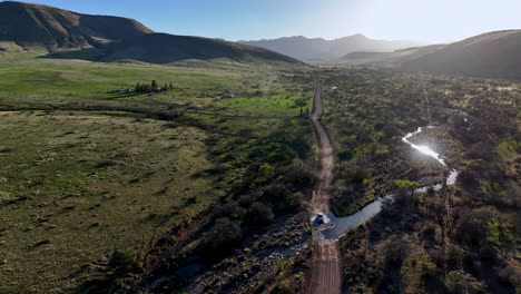
<path id="1" fill-rule="evenodd" d="M 82 266 L 136 248 L 222 195 L 191 127 L 83 112 L 0 114 L 0 292 L 75 288 Z"/>

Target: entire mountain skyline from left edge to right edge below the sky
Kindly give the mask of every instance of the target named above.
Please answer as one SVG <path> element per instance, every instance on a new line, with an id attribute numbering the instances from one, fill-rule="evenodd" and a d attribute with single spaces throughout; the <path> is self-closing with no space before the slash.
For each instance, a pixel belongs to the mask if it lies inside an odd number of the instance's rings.
<path id="1" fill-rule="evenodd" d="M 90 16 L 41 4 L 0 2 L 0 52 L 47 58 L 176 63 L 223 60 L 283 68 L 299 60 L 334 66 L 393 67 L 484 78 L 521 79 L 521 30 L 493 31 L 449 45 L 379 41 L 363 35 L 335 40 L 288 37 L 229 42 L 158 33 L 128 18 Z M 299 60 L 297 60 L 299 59 Z"/>

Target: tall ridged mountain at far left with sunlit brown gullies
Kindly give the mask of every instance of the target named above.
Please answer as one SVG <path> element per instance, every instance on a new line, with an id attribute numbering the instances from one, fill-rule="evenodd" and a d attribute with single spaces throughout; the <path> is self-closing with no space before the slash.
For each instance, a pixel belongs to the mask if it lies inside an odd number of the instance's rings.
<path id="1" fill-rule="evenodd" d="M 132 19 L 88 16 L 48 6 L 0 2 L 0 41 L 22 48 L 97 47 L 154 32 Z"/>

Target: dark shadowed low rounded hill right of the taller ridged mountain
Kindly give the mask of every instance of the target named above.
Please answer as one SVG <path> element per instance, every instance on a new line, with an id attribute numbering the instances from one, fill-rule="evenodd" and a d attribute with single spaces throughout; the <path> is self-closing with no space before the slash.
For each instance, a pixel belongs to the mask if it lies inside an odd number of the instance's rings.
<path id="1" fill-rule="evenodd" d="M 92 61 L 135 60 L 149 63 L 174 63 L 184 60 L 228 59 L 257 63 L 304 63 L 263 48 L 217 39 L 149 33 L 114 41 L 99 48 L 58 52 L 50 58 L 86 59 Z"/>

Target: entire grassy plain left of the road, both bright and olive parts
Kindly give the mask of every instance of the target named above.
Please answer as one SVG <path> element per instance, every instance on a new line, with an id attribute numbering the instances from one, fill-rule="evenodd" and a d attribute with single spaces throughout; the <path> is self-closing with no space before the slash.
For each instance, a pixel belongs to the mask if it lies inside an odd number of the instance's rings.
<path id="1" fill-rule="evenodd" d="M 293 116 L 311 95 L 287 75 L 0 55 L 0 292 L 75 292 L 96 261 L 147 252 L 256 165 L 305 156 Z M 175 89 L 108 94 L 151 80 Z"/>

